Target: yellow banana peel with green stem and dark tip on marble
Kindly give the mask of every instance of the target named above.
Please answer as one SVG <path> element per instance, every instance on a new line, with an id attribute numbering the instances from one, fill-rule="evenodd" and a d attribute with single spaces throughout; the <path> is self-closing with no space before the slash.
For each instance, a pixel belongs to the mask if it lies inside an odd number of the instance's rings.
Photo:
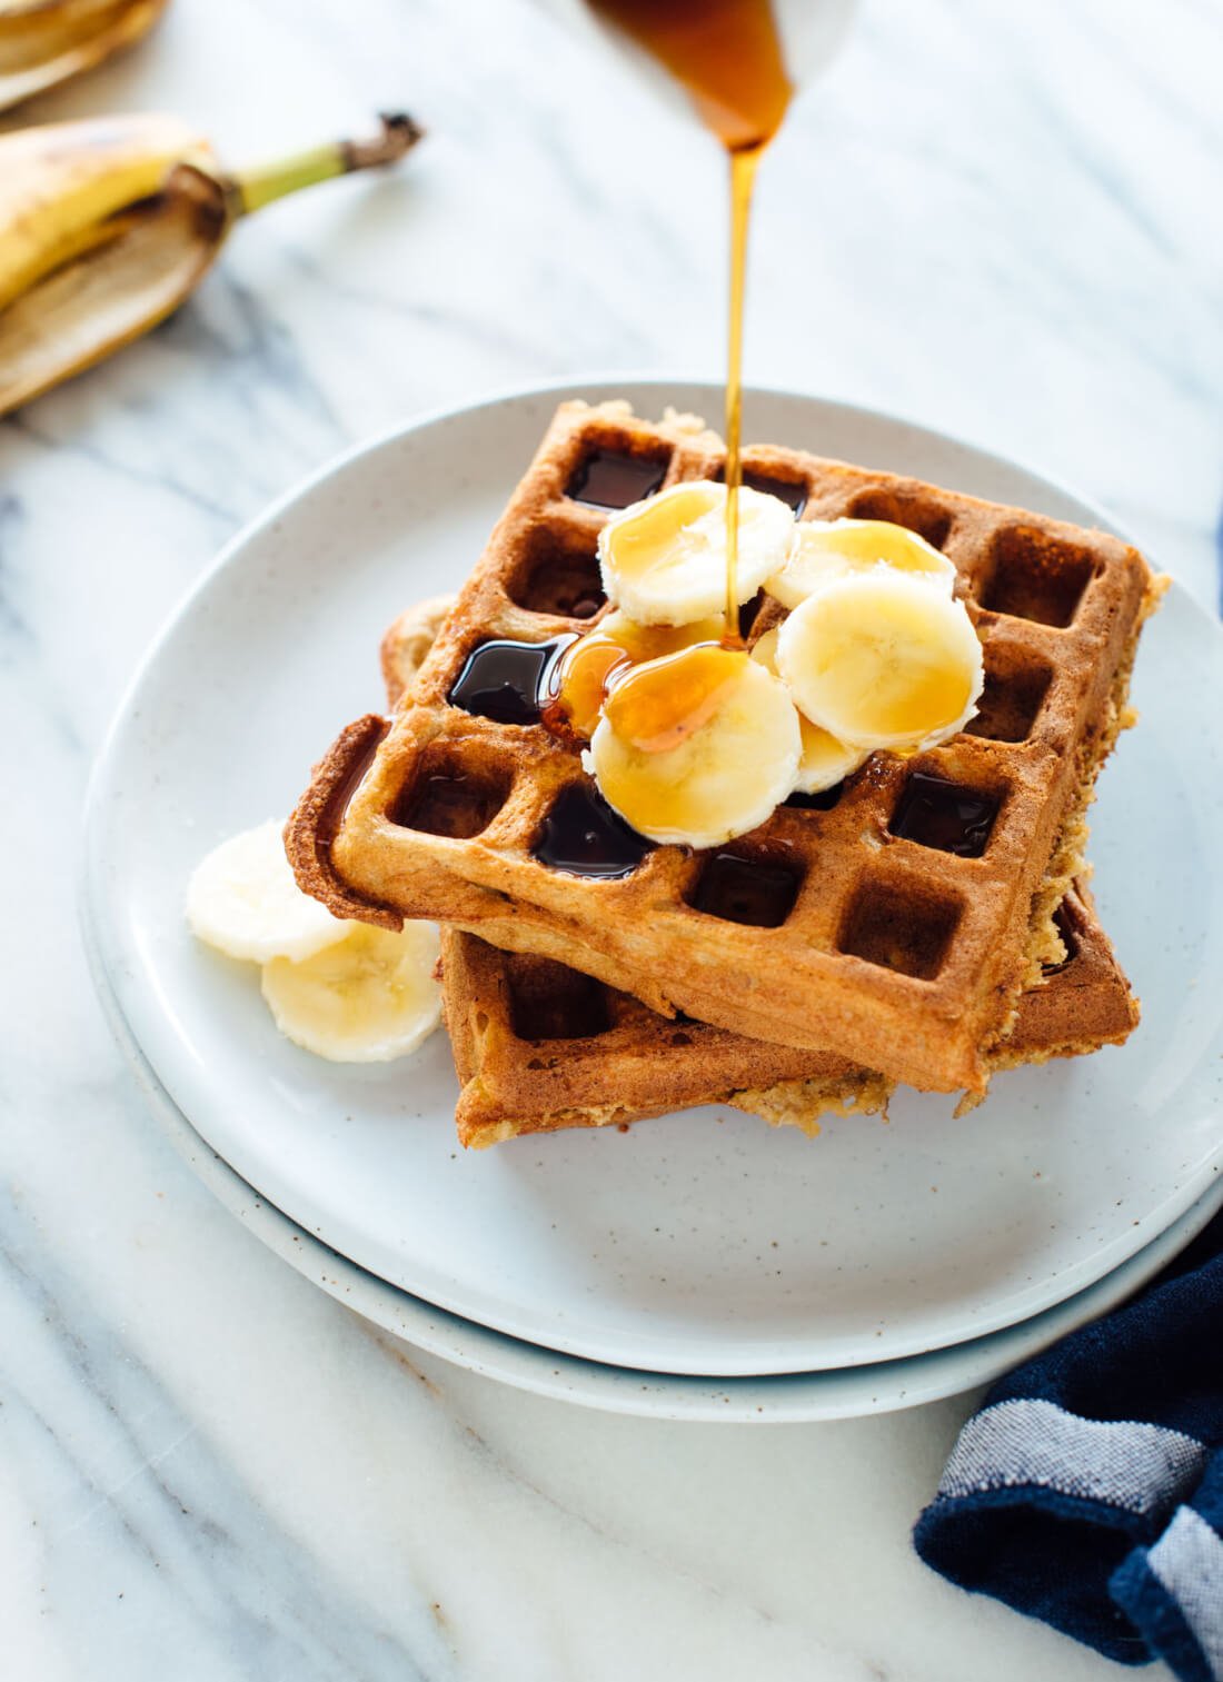
<path id="1" fill-rule="evenodd" d="M 394 163 L 421 133 L 407 116 L 384 116 L 368 141 L 333 141 L 239 175 L 165 116 L 0 135 L 0 415 L 163 321 L 239 217 Z"/>

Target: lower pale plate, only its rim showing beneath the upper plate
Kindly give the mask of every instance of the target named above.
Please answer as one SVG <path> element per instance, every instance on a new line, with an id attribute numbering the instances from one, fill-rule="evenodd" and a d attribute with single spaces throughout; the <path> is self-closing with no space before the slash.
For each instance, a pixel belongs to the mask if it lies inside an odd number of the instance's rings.
<path id="1" fill-rule="evenodd" d="M 86 932 L 89 925 L 86 922 Z M 1019 1325 L 1008 1325 L 989 1337 L 974 1337 L 947 1349 L 900 1361 L 839 1367 L 828 1373 L 787 1373 L 776 1378 L 683 1378 L 639 1373 L 633 1367 L 602 1366 L 577 1356 L 557 1354 L 503 1332 L 488 1330 L 458 1314 L 434 1309 L 419 1297 L 375 1278 L 347 1256 L 328 1250 L 241 1179 L 200 1139 L 148 1066 L 123 1021 L 98 960 L 93 939 L 89 959 L 114 1036 L 126 1053 L 153 1112 L 200 1179 L 225 1208 L 281 1260 L 289 1262 L 328 1297 L 347 1309 L 426 1349 L 444 1361 L 479 1373 L 483 1378 L 528 1389 L 555 1401 L 572 1401 L 609 1413 L 633 1413 L 663 1420 L 700 1420 L 722 1425 L 799 1425 L 818 1420 L 848 1420 L 865 1413 L 892 1413 L 927 1401 L 956 1396 L 976 1384 L 987 1384 L 1016 1362 L 1077 1325 L 1107 1314 L 1152 1278 L 1194 1238 L 1223 1204 L 1223 1174 L 1186 1213 L 1099 1283 Z"/>

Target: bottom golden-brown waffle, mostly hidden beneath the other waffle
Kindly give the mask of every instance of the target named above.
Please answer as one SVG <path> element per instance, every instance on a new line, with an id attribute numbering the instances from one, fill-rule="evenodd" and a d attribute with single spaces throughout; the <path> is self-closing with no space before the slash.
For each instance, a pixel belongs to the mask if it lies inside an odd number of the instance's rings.
<path id="1" fill-rule="evenodd" d="M 1058 922 L 1067 959 L 1019 999 L 1008 1061 L 1043 1063 L 1120 1045 L 1137 1024 L 1129 982 L 1085 890 Z M 464 1145 L 604 1127 L 698 1103 L 818 1132 L 821 1115 L 870 1115 L 892 1083 L 833 1051 L 779 1046 L 654 1014 L 552 959 L 442 930 L 442 1001 Z"/>

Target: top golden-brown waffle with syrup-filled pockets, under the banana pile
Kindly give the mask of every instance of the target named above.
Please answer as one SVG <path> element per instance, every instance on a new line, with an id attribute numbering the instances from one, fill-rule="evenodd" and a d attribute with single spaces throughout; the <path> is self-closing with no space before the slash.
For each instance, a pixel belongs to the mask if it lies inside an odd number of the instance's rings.
<path id="1" fill-rule="evenodd" d="M 643 843 L 622 880 L 553 870 L 535 849 L 590 796 L 579 755 L 540 723 L 478 717 L 447 696 L 483 643 L 538 648 L 592 622 L 607 518 L 582 501 L 592 486 L 612 500 L 627 479 L 633 500 L 720 469 L 708 432 L 649 426 L 624 405 L 562 405 L 390 728 L 358 720 L 316 769 L 288 831 L 298 878 L 341 915 L 389 927 L 429 917 L 560 960 L 580 947 L 584 969 L 661 1014 L 831 1045 L 919 1088 L 981 1092 L 1023 986 L 1062 955 L 1051 913 L 1082 865 L 1082 812 L 1122 723 L 1154 580 L 1100 532 L 797 451 L 749 451 L 750 481 L 792 488 L 807 516 L 895 520 L 947 553 L 984 644 L 981 711 L 944 747 L 871 755 L 828 809 L 779 807 L 715 854 Z M 777 617 L 765 599 L 749 636 Z M 993 812 L 981 856 L 903 833 L 917 774 Z M 707 873 L 757 866 L 791 883 L 777 927 L 735 920 L 733 900 L 730 915 L 710 910 Z"/>

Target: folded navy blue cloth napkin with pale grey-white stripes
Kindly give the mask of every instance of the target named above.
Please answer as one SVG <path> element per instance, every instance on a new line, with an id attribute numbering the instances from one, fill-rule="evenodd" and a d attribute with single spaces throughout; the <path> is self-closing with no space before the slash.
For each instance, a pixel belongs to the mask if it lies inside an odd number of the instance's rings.
<path id="1" fill-rule="evenodd" d="M 1109 1658 L 1223 1682 L 1223 1214 L 989 1391 L 913 1544 Z"/>

